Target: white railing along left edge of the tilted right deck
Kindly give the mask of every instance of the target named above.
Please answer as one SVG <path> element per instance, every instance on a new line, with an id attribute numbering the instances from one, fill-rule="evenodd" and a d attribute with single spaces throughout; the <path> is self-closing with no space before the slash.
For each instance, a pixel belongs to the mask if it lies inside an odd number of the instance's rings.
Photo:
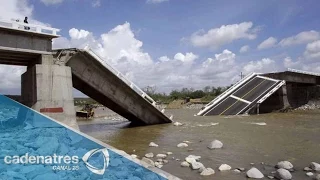
<path id="1" fill-rule="evenodd" d="M 240 85 L 242 85 L 243 83 L 245 83 L 246 81 L 248 81 L 249 79 L 251 79 L 253 76 L 256 76 L 256 73 L 251 73 L 248 74 L 247 76 L 245 76 L 244 78 L 242 78 L 240 81 L 236 82 L 233 86 L 231 86 L 229 89 L 227 89 L 226 91 L 224 91 L 222 94 L 220 94 L 219 96 L 217 96 L 216 98 L 214 98 L 211 102 L 209 102 L 207 105 L 205 105 L 204 109 L 201 110 L 197 115 L 203 115 L 203 113 L 205 113 L 207 110 L 209 110 L 212 106 L 214 106 L 216 104 L 216 102 L 220 101 L 221 99 L 223 99 L 225 96 L 227 96 L 228 94 L 230 94 L 233 90 L 235 90 L 236 88 L 238 88 Z"/>

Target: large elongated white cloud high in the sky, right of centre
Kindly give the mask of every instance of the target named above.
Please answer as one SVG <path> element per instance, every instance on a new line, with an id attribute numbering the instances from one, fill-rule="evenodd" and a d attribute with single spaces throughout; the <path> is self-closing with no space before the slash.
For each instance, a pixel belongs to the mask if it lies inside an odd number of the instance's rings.
<path id="1" fill-rule="evenodd" d="M 218 48 L 238 39 L 255 39 L 256 30 L 252 28 L 252 22 L 223 25 L 220 28 L 195 32 L 190 37 L 190 42 L 196 47 Z"/>

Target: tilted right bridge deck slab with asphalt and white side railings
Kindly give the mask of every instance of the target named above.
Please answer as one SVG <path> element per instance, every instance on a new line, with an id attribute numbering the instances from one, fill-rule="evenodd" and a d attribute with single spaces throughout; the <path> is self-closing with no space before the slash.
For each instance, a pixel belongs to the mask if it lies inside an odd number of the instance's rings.
<path id="1" fill-rule="evenodd" d="M 262 103 L 284 84 L 284 81 L 250 74 L 207 104 L 197 115 L 243 114 L 257 103 Z"/>

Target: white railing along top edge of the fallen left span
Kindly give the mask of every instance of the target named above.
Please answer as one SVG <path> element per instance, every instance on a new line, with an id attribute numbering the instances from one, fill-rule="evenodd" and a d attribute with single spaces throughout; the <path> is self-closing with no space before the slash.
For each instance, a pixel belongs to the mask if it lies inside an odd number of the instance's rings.
<path id="1" fill-rule="evenodd" d="M 111 71 L 113 74 L 119 77 L 124 83 L 126 83 L 128 86 L 131 87 L 137 94 L 139 94 L 141 97 L 143 97 L 145 100 L 147 100 L 150 104 L 153 106 L 156 106 L 156 102 L 142 89 L 140 89 L 136 84 L 131 82 L 129 79 L 127 79 L 120 71 L 113 68 L 108 62 L 106 62 L 103 58 L 101 58 L 99 55 L 97 55 L 89 46 L 86 46 L 84 50 L 93 56 L 95 59 L 97 59 L 102 65 L 104 65 L 109 71 Z"/>

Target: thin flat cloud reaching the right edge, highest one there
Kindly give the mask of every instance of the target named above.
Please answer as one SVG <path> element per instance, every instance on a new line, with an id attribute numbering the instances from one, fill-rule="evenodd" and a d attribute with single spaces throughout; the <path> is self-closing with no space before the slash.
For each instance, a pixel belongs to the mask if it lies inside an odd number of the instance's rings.
<path id="1" fill-rule="evenodd" d="M 279 44 L 281 46 L 292 46 L 297 44 L 306 44 L 320 39 L 320 33 L 317 31 L 303 31 L 295 36 L 282 39 Z"/>

